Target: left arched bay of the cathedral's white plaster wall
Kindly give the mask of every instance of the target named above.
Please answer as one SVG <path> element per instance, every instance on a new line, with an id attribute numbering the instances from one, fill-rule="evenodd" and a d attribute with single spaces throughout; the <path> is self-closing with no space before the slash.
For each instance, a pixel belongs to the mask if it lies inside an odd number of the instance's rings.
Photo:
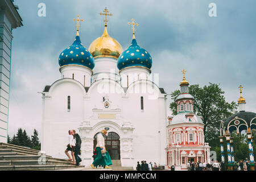
<path id="1" fill-rule="evenodd" d="M 75 129 L 84 119 L 84 95 L 81 84 L 75 80 L 60 80 L 51 86 L 44 97 L 42 150 L 47 154 L 67 158 L 68 130 Z M 68 111 L 68 96 L 71 110 Z"/>

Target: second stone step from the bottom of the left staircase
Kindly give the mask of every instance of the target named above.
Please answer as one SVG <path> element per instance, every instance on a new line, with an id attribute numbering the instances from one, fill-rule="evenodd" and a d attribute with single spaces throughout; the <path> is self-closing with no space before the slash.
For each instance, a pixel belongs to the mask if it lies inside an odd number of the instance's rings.
<path id="1" fill-rule="evenodd" d="M 40 165 L 39 162 L 45 162 L 43 165 L 72 165 L 68 161 L 58 161 L 52 159 L 40 160 L 0 160 L 0 166 L 32 166 Z M 42 163 L 41 163 L 42 164 Z"/>

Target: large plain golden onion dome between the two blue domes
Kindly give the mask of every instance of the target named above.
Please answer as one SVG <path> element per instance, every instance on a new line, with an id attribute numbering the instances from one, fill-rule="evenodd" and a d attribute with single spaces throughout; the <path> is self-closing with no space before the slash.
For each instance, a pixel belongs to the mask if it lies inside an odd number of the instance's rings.
<path id="1" fill-rule="evenodd" d="M 90 44 L 88 50 L 94 58 L 113 57 L 118 59 L 123 52 L 122 46 L 117 40 L 109 36 L 106 25 L 103 34 Z"/>

